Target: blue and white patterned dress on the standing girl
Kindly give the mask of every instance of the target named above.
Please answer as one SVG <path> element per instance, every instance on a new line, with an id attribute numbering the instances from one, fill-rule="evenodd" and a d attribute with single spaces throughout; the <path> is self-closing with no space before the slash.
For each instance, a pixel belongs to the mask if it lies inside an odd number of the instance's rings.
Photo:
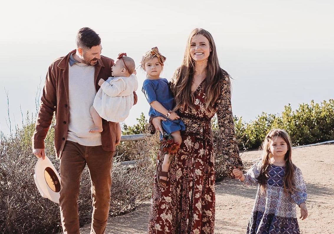
<path id="1" fill-rule="evenodd" d="M 244 184 L 258 186 L 260 162 L 255 163 L 245 174 Z M 260 194 L 260 187 L 247 227 L 247 234 L 299 234 L 296 205 L 306 201 L 306 185 L 301 170 L 295 166 L 296 191 L 285 194 L 283 178 L 285 166 L 271 164 L 268 168 L 266 193 Z"/>

